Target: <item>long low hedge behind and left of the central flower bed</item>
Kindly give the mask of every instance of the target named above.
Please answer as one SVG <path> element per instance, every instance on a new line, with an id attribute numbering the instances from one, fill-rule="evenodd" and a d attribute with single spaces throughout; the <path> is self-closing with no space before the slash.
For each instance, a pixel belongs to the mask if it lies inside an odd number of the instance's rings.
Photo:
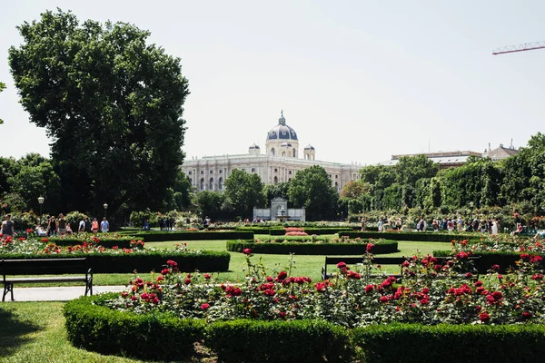
<path id="1" fill-rule="evenodd" d="M 253 240 L 252 231 L 145 231 L 134 234 L 145 242 L 164 240 Z"/>

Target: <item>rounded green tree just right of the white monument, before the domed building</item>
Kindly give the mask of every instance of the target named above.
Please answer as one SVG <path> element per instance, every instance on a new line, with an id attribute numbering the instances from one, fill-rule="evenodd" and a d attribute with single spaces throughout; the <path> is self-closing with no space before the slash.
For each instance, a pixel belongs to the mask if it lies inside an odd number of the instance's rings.
<path id="1" fill-rule="evenodd" d="M 328 173 L 319 165 L 313 165 L 295 174 L 290 183 L 288 196 L 295 207 L 304 207 L 309 221 L 334 218 L 337 191 L 332 187 Z"/>

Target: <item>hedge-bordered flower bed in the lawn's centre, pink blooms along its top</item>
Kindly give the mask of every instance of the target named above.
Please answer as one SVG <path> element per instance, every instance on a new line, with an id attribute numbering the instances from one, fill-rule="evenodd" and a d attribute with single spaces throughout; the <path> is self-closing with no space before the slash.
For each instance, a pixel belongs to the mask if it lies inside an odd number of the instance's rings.
<path id="1" fill-rule="evenodd" d="M 367 245 L 375 245 L 375 253 L 393 253 L 398 250 L 395 240 L 361 239 L 320 239 L 320 237 L 285 236 L 272 240 L 228 240 L 227 250 L 243 252 L 252 249 L 254 253 L 297 255 L 362 255 Z"/>

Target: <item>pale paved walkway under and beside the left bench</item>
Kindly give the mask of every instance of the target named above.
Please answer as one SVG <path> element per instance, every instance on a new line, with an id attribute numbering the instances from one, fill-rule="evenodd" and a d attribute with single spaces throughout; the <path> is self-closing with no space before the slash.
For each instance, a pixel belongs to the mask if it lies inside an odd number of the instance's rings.
<path id="1" fill-rule="evenodd" d="M 101 292 L 121 292 L 128 290 L 126 286 L 94 286 L 93 294 Z M 3 291 L 3 289 L 2 289 Z M 23 288 L 14 287 L 15 301 L 68 301 L 85 294 L 84 286 L 68 286 L 62 288 Z M 5 302 L 11 301 L 10 294 L 5 296 Z"/>

